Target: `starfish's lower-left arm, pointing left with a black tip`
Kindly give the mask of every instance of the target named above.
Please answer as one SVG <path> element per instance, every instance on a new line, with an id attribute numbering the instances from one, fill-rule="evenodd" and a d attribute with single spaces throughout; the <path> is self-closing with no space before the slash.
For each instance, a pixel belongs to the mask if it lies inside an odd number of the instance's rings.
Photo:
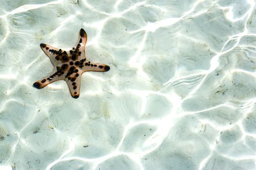
<path id="1" fill-rule="evenodd" d="M 57 73 L 57 72 L 54 70 L 54 71 L 52 71 L 48 76 L 46 76 L 46 77 L 42 78 L 41 80 L 35 82 L 35 83 L 33 84 L 33 86 L 34 86 L 35 88 L 37 88 L 37 89 L 40 89 L 40 88 L 45 87 L 46 85 L 49 85 L 49 84 L 51 84 L 51 83 L 53 83 L 53 82 L 58 81 L 58 80 L 61 80 L 61 79 L 63 80 L 63 79 L 64 79 L 64 75 L 61 75 L 61 74 L 58 75 L 58 74 L 59 74 L 59 73 Z"/>

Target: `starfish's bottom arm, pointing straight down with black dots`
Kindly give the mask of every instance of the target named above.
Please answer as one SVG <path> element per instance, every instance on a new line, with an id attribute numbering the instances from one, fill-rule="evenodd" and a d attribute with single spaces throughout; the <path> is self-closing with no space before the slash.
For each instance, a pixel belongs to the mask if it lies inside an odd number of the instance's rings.
<path id="1" fill-rule="evenodd" d="M 65 78 L 65 81 L 67 82 L 70 94 L 73 98 L 77 99 L 79 98 L 79 91 L 80 91 L 80 85 L 81 85 L 81 73 L 74 73 L 70 76 L 70 78 Z"/>

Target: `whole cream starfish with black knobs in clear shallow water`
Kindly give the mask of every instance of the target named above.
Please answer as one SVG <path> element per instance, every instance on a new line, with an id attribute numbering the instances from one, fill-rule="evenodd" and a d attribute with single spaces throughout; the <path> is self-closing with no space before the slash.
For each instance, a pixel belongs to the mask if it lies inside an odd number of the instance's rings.
<path id="1" fill-rule="evenodd" d="M 50 58 L 54 69 L 48 76 L 35 82 L 33 86 L 40 89 L 50 83 L 64 80 L 71 96 L 75 99 L 79 98 L 82 73 L 85 71 L 105 72 L 110 69 L 107 65 L 92 63 L 86 59 L 84 51 L 86 41 L 87 34 L 81 28 L 77 46 L 70 51 L 62 51 L 47 44 L 40 44 L 42 51 Z"/>

